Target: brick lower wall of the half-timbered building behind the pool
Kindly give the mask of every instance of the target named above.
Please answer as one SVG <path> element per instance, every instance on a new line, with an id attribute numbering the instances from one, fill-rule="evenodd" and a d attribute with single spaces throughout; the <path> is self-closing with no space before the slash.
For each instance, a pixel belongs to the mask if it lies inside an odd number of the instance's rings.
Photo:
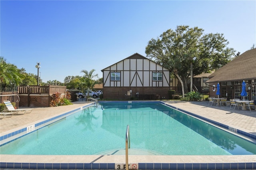
<path id="1" fill-rule="evenodd" d="M 127 92 L 132 90 L 132 96 L 139 100 L 168 99 L 169 87 L 104 87 L 104 99 L 130 100 Z M 139 93 L 136 95 L 136 93 Z"/>

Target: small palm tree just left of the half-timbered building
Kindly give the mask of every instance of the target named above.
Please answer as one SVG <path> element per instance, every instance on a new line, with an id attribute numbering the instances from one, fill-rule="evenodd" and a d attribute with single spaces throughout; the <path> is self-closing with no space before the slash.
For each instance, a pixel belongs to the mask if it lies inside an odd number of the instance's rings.
<path id="1" fill-rule="evenodd" d="M 88 91 L 87 97 L 89 97 L 90 90 L 93 89 L 94 85 L 96 84 L 96 81 L 94 80 L 94 78 L 98 78 L 98 74 L 94 74 L 93 73 L 94 71 L 95 69 L 92 69 L 90 72 L 88 72 L 87 70 L 81 71 L 81 73 L 85 74 L 84 76 L 82 76 L 81 82 Z"/>

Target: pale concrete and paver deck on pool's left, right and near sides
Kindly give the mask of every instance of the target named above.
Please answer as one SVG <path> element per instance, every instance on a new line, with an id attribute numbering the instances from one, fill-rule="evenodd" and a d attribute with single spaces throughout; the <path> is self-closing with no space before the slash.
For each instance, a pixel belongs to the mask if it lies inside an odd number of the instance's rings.
<path id="1" fill-rule="evenodd" d="M 226 106 L 208 106 L 208 101 L 184 102 L 163 101 L 173 107 L 205 117 L 212 121 L 234 127 L 256 135 L 256 111 L 232 110 Z M 35 122 L 48 119 L 62 113 L 87 105 L 86 101 L 76 101 L 73 105 L 61 107 L 33 108 L 32 113 L 13 115 L 0 120 L 0 132 L 3 136 L 10 132 L 28 127 Z M 21 108 L 21 107 L 20 107 Z M 125 148 L 125 143 L 124 143 Z M 166 156 L 166 155 L 129 155 L 129 163 L 246 163 L 252 162 L 256 168 L 256 155 L 232 156 Z M 37 163 L 120 163 L 125 164 L 125 155 L 1 155 L 0 162 L 37 162 Z M 63 168 L 62 168 L 63 169 Z M 148 168 L 147 168 L 148 169 Z M 237 168 L 235 168 L 237 169 Z M 238 168 L 239 169 L 239 168 Z M 247 169 L 247 168 L 242 168 Z M 253 168 L 251 168 L 253 169 Z"/>

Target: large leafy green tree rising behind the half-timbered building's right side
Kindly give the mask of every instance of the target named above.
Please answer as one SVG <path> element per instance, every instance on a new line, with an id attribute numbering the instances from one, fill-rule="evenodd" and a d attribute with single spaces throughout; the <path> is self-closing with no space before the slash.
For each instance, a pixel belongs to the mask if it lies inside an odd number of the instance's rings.
<path id="1" fill-rule="evenodd" d="M 235 51 L 226 47 L 228 43 L 223 34 L 204 34 L 198 27 L 177 26 L 175 31 L 169 29 L 157 39 L 152 38 L 145 53 L 179 79 L 184 97 L 189 77 L 219 69 L 230 61 Z"/>

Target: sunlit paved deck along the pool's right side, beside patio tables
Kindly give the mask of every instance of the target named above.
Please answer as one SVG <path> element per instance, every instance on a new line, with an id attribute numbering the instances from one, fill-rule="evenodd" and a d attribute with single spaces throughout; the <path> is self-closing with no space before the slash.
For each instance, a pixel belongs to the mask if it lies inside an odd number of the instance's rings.
<path id="1" fill-rule="evenodd" d="M 208 105 L 208 101 L 166 101 L 166 103 L 207 119 L 256 135 L 256 111 L 230 109 L 230 106 Z"/>

